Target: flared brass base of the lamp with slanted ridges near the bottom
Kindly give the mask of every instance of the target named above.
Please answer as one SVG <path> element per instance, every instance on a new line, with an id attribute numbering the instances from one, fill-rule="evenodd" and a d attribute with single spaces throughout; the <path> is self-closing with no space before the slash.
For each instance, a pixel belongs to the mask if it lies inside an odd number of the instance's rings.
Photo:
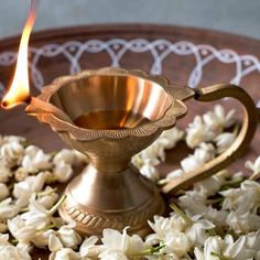
<path id="1" fill-rule="evenodd" d="M 105 173 L 90 164 L 67 186 L 66 201 L 59 208 L 65 221 L 74 220 L 82 235 L 101 237 L 105 228 L 144 237 L 148 219 L 164 213 L 164 202 L 155 185 L 130 165 L 116 173 Z"/>

